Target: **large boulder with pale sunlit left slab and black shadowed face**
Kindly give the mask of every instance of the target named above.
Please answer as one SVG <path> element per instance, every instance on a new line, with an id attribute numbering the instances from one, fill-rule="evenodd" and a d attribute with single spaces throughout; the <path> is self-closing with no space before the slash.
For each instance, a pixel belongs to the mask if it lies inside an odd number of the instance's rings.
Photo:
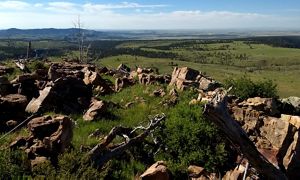
<path id="1" fill-rule="evenodd" d="M 83 112 L 92 96 L 91 87 L 76 77 L 66 77 L 49 82 L 26 107 L 30 113 L 61 111 L 66 113 Z"/>

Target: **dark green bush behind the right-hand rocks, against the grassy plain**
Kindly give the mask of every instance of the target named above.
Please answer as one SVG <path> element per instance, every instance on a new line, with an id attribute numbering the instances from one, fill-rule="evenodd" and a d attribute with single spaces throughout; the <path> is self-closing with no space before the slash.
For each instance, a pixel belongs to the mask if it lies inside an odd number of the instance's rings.
<path id="1" fill-rule="evenodd" d="M 254 82 L 246 76 L 237 79 L 228 78 L 225 80 L 225 87 L 232 87 L 231 93 L 247 99 L 251 97 L 276 98 L 277 85 L 272 80 Z"/>

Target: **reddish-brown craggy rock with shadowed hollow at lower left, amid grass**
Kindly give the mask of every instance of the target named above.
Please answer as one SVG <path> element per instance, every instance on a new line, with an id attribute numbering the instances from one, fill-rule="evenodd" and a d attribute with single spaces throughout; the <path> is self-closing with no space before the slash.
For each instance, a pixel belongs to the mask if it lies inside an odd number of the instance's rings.
<path id="1" fill-rule="evenodd" d="M 32 165 L 44 162 L 39 160 L 47 158 L 56 162 L 57 156 L 71 145 L 73 126 L 73 120 L 67 116 L 37 117 L 28 123 L 31 134 L 28 137 L 19 137 L 10 147 L 24 149 Z"/>

